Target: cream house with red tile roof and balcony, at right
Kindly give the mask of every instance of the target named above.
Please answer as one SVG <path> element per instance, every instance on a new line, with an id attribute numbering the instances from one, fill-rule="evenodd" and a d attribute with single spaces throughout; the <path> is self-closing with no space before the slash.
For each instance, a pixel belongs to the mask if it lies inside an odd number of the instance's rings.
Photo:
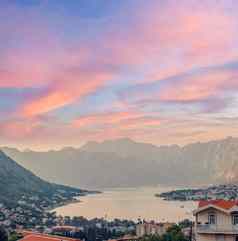
<path id="1" fill-rule="evenodd" d="M 237 201 L 200 201 L 194 216 L 196 241 L 238 241 Z"/>

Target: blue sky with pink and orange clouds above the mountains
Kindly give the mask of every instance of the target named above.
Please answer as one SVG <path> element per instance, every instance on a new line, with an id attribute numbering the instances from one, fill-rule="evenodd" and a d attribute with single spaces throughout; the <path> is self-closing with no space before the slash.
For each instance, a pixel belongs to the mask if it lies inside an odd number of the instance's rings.
<path id="1" fill-rule="evenodd" d="M 227 136 L 238 1 L 0 1 L 0 146 Z"/>

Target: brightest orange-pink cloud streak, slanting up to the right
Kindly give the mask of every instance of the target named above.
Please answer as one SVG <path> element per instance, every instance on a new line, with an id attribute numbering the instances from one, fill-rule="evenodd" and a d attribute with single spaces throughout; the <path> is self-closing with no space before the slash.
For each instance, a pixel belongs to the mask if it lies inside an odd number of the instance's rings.
<path id="1" fill-rule="evenodd" d="M 113 78 L 109 72 L 63 73 L 43 96 L 27 102 L 20 110 L 25 117 L 37 116 L 73 103 Z"/>

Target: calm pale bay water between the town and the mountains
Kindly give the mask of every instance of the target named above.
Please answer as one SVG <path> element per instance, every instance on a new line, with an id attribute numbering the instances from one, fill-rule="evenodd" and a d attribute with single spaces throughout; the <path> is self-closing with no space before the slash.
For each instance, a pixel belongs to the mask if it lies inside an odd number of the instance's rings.
<path id="1" fill-rule="evenodd" d="M 196 202 L 164 201 L 155 193 L 171 190 L 162 187 L 116 188 L 101 194 L 81 197 L 82 202 L 56 208 L 63 216 L 84 216 L 86 218 L 131 219 L 178 222 L 193 219 L 192 210 Z"/>

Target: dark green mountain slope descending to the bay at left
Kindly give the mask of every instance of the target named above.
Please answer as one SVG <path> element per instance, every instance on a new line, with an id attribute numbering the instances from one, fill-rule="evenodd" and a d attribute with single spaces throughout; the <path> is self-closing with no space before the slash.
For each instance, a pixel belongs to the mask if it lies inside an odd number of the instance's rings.
<path id="1" fill-rule="evenodd" d="M 23 168 L 0 151 L 0 203 L 7 206 L 16 204 L 20 199 L 40 196 L 48 201 L 53 196 L 70 200 L 83 191 L 77 188 L 57 185 L 42 180 Z"/>

